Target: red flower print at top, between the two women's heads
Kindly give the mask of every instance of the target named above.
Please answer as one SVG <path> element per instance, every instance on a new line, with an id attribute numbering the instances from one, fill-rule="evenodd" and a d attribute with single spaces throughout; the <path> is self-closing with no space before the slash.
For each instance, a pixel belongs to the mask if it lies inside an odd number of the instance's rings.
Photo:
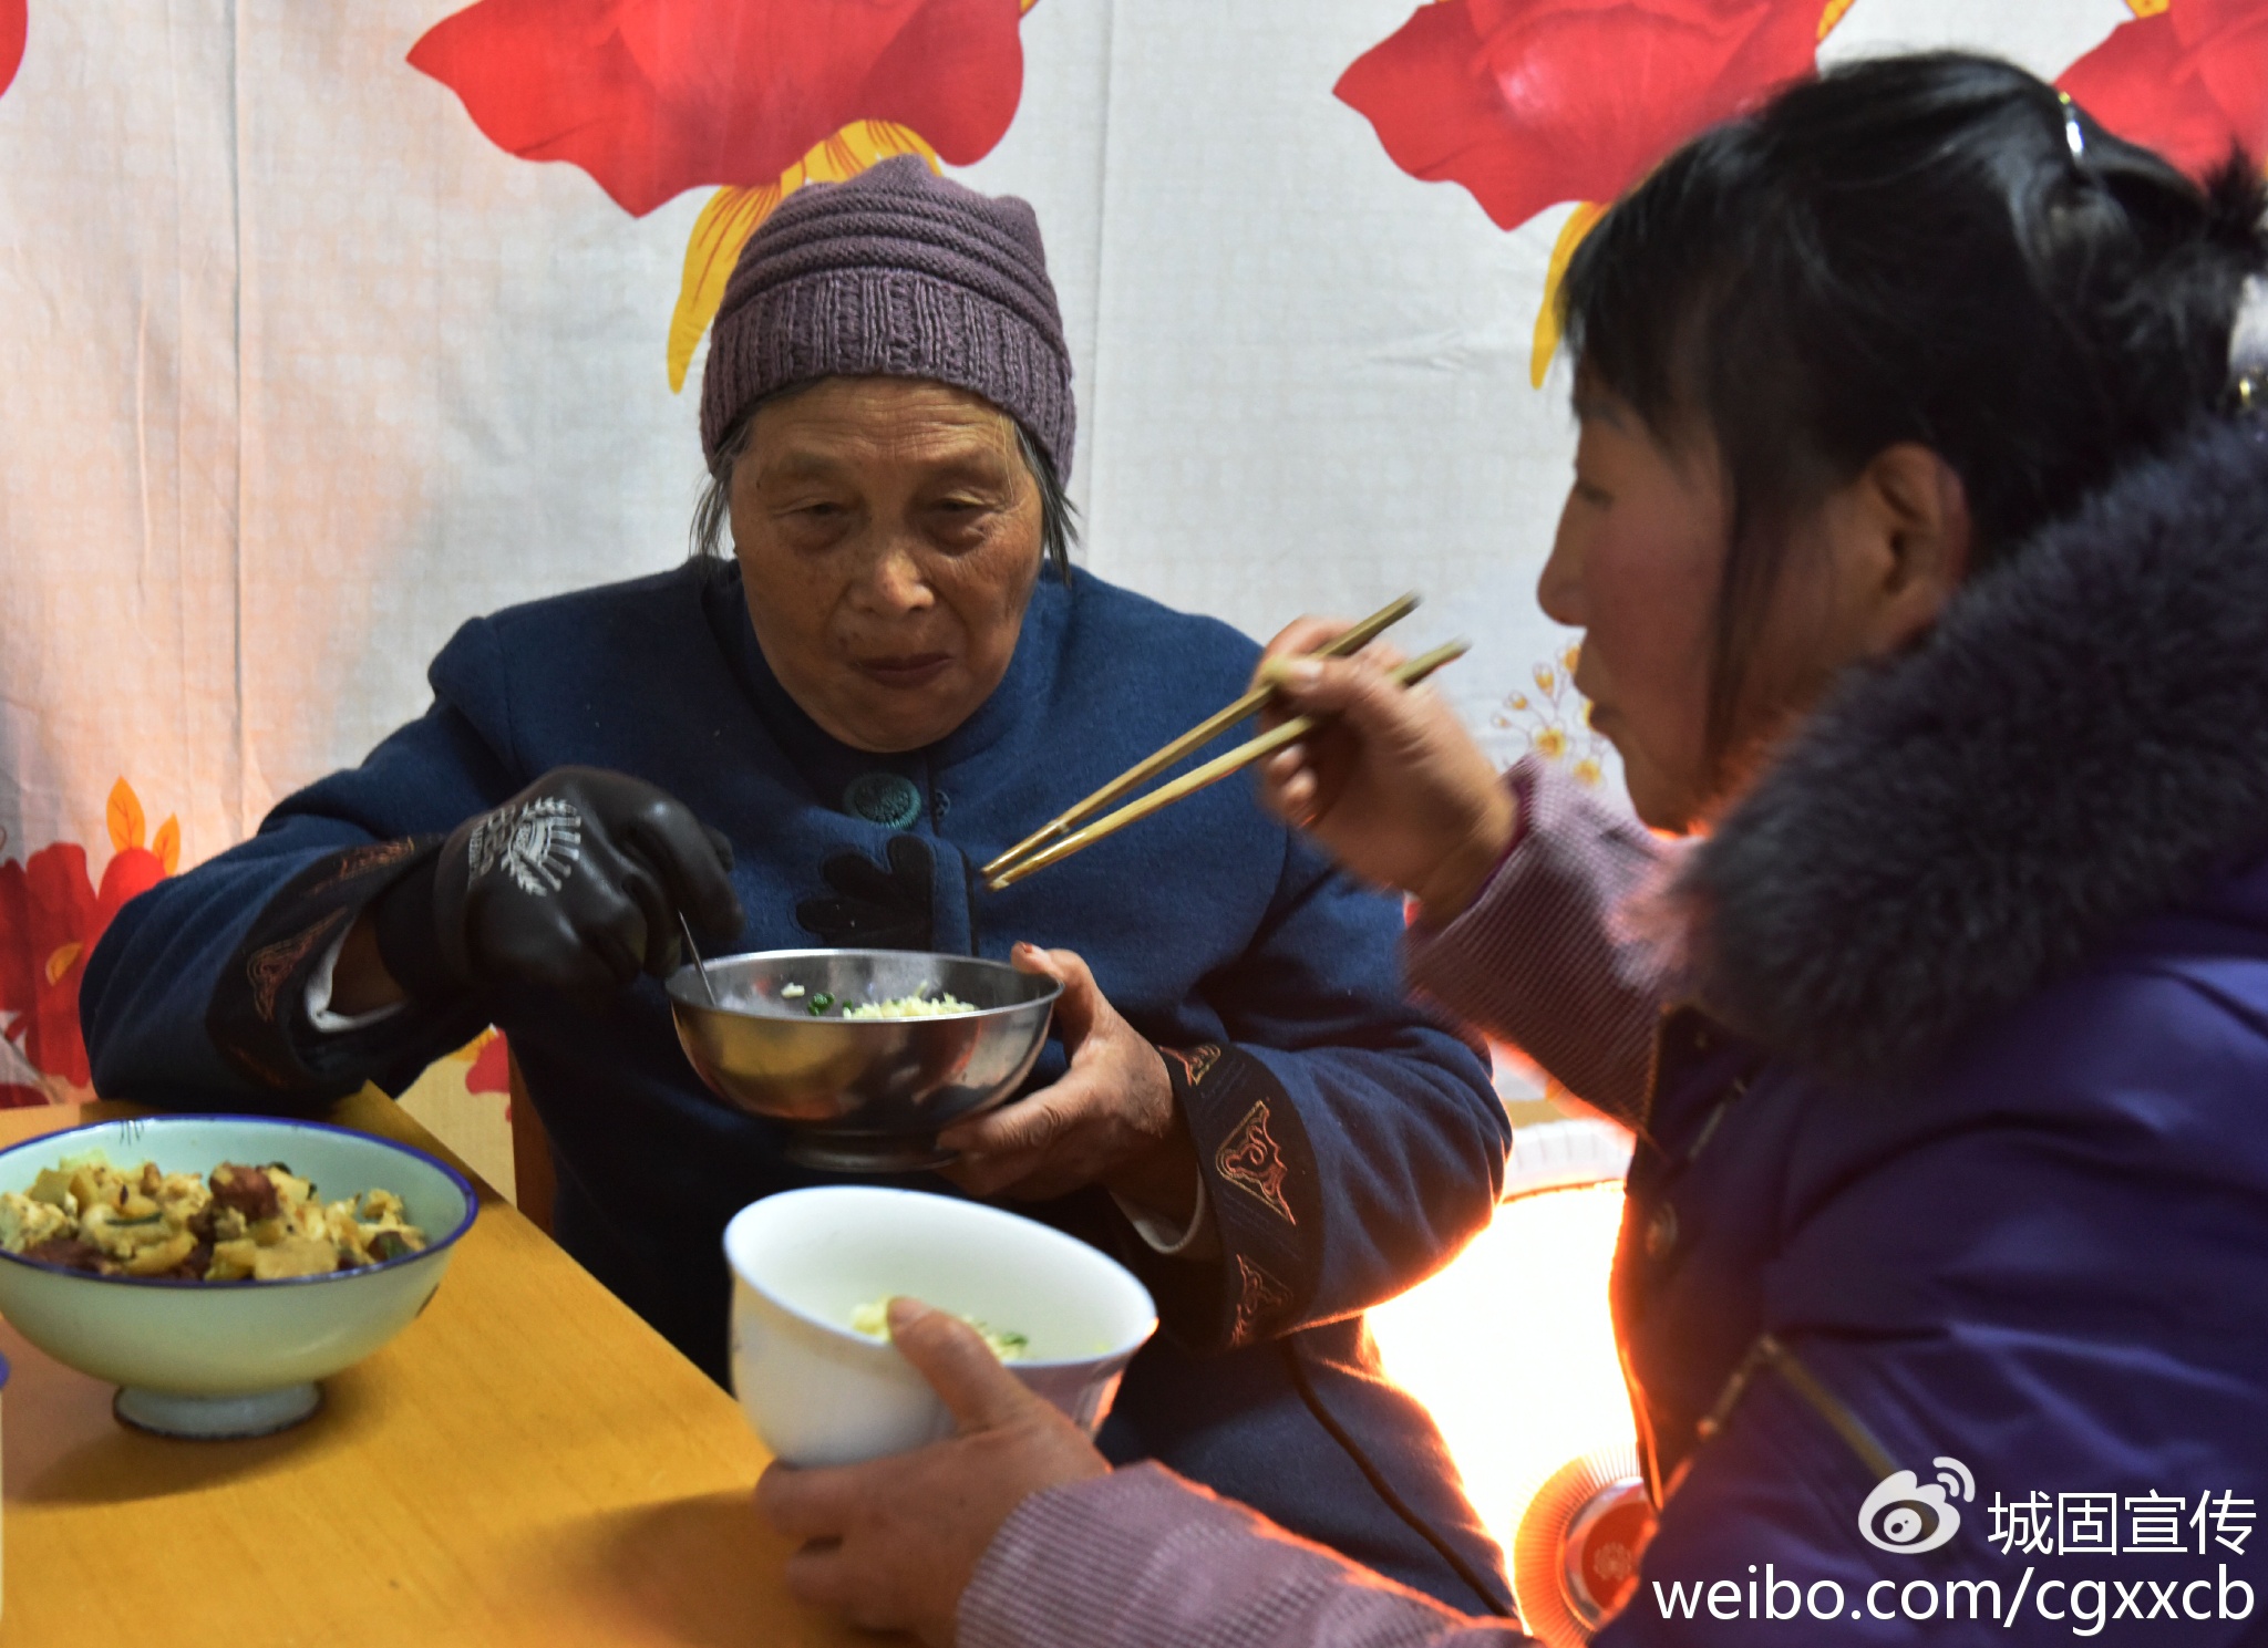
<path id="1" fill-rule="evenodd" d="M 1669 150 L 1812 73 L 1821 0 L 1438 0 L 1340 77 L 1411 177 L 1499 229 L 1615 199 Z"/>

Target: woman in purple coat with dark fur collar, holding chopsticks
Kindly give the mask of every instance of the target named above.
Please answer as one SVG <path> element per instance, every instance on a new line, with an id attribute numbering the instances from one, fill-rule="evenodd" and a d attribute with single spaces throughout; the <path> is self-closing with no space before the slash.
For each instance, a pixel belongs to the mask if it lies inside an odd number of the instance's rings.
<path id="1" fill-rule="evenodd" d="M 1417 898 L 1420 988 L 1640 1136 L 1660 1523 L 1601 1643 L 2268 1616 L 2259 215 L 2248 163 L 2200 190 L 1973 57 L 1789 88 L 1606 215 L 1540 596 L 1696 846 L 1495 782 L 1379 660 L 1297 666 L 1336 723 L 1272 802 Z M 968 1646 L 1513 1639 L 1105 1473 L 898 1313 L 964 1435 L 767 1478 L 805 1596 Z"/>

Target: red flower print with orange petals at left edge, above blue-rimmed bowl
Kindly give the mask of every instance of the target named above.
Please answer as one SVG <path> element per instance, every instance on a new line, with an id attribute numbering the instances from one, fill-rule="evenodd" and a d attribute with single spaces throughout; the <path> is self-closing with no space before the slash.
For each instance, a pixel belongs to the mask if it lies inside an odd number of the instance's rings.
<path id="1" fill-rule="evenodd" d="M 11 1084 L 0 1106 L 86 1097 L 86 1040 L 79 1036 L 79 979 L 95 941 L 125 902 L 166 880 L 181 852 L 181 825 L 168 818 L 154 848 L 143 846 L 143 812 L 118 780 L 109 805 L 111 861 L 98 889 L 86 848 L 57 841 L 25 861 L 0 861 L 0 1020 L 39 1086 Z"/>

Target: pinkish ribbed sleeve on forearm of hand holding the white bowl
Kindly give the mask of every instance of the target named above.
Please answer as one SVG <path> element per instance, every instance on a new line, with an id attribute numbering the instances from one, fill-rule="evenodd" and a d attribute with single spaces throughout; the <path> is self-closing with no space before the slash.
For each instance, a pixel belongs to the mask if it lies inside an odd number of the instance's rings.
<path id="1" fill-rule="evenodd" d="M 1161 1464 L 1034 1494 L 962 1594 L 959 1648 L 1515 1648 Z"/>

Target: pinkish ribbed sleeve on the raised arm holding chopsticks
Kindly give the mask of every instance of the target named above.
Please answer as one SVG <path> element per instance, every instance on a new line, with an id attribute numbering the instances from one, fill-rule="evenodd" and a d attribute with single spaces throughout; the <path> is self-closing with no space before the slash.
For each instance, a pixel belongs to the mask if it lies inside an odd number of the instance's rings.
<path id="1" fill-rule="evenodd" d="M 1619 911 L 1678 848 L 1533 755 L 1504 782 L 1520 800 L 1520 836 L 1465 914 L 1411 929 L 1408 979 L 1576 1097 L 1635 1122 L 1674 975 Z"/>

